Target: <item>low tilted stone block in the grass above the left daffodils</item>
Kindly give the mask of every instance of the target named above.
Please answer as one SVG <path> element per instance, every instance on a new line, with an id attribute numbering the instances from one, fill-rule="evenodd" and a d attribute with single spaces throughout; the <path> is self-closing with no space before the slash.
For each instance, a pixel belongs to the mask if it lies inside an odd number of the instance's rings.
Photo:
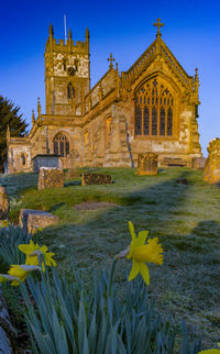
<path id="1" fill-rule="evenodd" d="M 59 218 L 43 210 L 21 209 L 20 226 L 28 233 L 34 234 L 37 230 L 57 224 Z"/>

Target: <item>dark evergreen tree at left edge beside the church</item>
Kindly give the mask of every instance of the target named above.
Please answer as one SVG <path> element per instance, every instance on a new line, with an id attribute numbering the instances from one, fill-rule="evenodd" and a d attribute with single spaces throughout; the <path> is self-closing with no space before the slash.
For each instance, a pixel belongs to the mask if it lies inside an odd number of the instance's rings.
<path id="1" fill-rule="evenodd" d="M 28 124 L 19 114 L 20 107 L 0 95 L 0 169 L 7 161 L 7 129 L 9 125 L 11 136 L 24 136 Z"/>

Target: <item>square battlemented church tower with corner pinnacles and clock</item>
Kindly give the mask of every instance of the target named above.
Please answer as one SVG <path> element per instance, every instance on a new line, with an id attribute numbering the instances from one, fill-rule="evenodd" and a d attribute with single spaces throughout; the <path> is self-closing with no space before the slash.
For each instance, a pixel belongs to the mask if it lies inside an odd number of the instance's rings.
<path id="1" fill-rule="evenodd" d="M 66 43 L 57 43 L 51 24 L 44 58 L 46 114 L 72 115 L 73 106 L 90 89 L 88 27 L 85 42 L 75 44 L 69 30 Z"/>

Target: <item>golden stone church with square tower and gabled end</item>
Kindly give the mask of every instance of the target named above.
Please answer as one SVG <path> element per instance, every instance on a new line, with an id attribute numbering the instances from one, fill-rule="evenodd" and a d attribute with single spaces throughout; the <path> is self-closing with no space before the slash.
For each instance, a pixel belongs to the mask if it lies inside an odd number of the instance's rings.
<path id="1" fill-rule="evenodd" d="M 158 165 L 190 166 L 201 156 L 198 133 L 199 80 L 189 76 L 162 40 L 127 70 L 109 57 L 109 69 L 90 89 L 89 31 L 85 42 L 54 37 L 45 46 L 46 109 L 32 112 L 28 136 L 7 132 L 8 172 L 30 172 L 36 155 L 59 155 L 59 166 L 132 167 L 153 152 Z"/>

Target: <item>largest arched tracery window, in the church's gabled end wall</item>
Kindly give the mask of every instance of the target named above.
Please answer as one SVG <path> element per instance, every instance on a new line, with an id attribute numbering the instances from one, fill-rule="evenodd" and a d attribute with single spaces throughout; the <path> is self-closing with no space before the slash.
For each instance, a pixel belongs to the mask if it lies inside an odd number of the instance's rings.
<path id="1" fill-rule="evenodd" d="M 160 79 L 152 79 L 135 96 L 135 135 L 173 136 L 174 98 Z"/>

